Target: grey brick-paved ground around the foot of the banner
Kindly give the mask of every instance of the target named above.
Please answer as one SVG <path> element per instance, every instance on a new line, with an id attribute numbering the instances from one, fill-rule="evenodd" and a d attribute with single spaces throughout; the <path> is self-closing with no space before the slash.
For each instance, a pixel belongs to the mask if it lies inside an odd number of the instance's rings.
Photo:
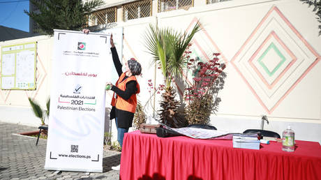
<path id="1" fill-rule="evenodd" d="M 104 151 L 103 173 L 56 172 L 44 170 L 47 140 L 17 135 L 37 130 L 0 121 L 0 179 L 119 179 L 112 166 L 119 165 L 121 154 Z"/>

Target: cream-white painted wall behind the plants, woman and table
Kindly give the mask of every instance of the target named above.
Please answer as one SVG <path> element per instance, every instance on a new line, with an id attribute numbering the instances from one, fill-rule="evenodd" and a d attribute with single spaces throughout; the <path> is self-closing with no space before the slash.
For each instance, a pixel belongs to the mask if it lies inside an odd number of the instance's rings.
<path id="1" fill-rule="evenodd" d="M 218 114 L 211 116 L 211 123 L 216 128 L 232 132 L 260 128 L 260 116 L 265 114 L 269 124 L 265 123 L 264 129 L 274 130 L 281 135 L 288 124 L 291 124 L 297 140 L 321 141 L 320 24 L 313 7 L 308 8 L 299 0 L 225 1 L 117 22 L 116 27 L 124 27 L 124 59 L 135 57 L 143 66 L 142 77 L 138 78 L 142 90 L 139 100 L 143 104 L 149 98 L 147 80 L 154 82 L 156 79 L 158 84 L 163 78 L 158 70 L 155 72 L 154 66 L 150 66 L 151 57 L 145 52 L 144 33 L 149 23 L 185 31 L 197 19 L 203 30 L 195 35 L 195 41 L 199 44 L 198 47 L 193 45 L 195 52 L 201 58 L 205 57 L 204 54 L 221 52 L 221 59 L 227 65 L 225 87 L 219 93 L 222 102 Z M 274 35 L 271 35 L 272 31 Z M 264 46 L 264 40 L 267 39 L 270 41 L 266 44 L 274 43 L 286 57 L 283 64 L 288 64 L 277 68 L 274 73 L 270 73 L 271 76 L 260 70 L 260 67 L 255 71 L 246 64 L 256 51 L 258 55 L 254 56 L 252 62 L 258 61 L 262 52 L 267 50 L 267 46 Z M 20 40 L 3 42 L 1 45 L 17 42 Z M 42 54 L 40 59 L 45 61 L 46 70 L 50 72 L 52 41 L 48 39 L 43 42 L 47 43 L 43 44 L 44 47 L 41 45 L 43 49 L 39 49 L 38 53 Z M 271 62 L 278 57 L 275 53 L 269 56 L 272 59 L 263 57 L 262 61 L 273 67 L 275 65 Z M 263 79 L 270 78 L 270 84 L 264 84 L 259 74 Z M 277 75 L 283 76 L 278 78 Z M 277 83 L 273 84 L 274 82 Z M 0 121 L 28 125 L 32 124 L 31 121 L 37 121 L 31 118 L 31 112 L 28 111 L 26 94 L 36 94 L 36 98 L 45 102 L 50 90 L 49 83 L 47 75 L 43 82 L 46 85 L 42 85 L 43 90 L 40 89 L 37 93 L 0 91 Z M 3 100 L 3 96 L 8 98 Z M 159 96 L 156 98 L 156 107 L 158 100 Z M 151 108 L 148 113 L 152 114 Z M 114 123 L 112 127 L 115 132 Z"/>

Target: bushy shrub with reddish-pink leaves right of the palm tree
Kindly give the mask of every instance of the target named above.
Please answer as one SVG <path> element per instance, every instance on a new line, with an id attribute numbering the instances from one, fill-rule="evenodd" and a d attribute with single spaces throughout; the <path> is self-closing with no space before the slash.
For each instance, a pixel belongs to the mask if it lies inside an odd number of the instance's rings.
<path id="1" fill-rule="evenodd" d="M 190 54 L 190 51 L 187 51 Z M 203 63 L 200 59 L 189 59 L 187 70 L 193 75 L 193 82 L 186 78 L 185 108 L 188 124 L 207 124 L 211 112 L 218 111 L 221 98 L 218 92 L 224 87 L 226 74 L 224 63 L 219 63 L 219 53 L 214 53 L 214 58 Z M 189 57 L 189 56 L 188 56 Z"/>

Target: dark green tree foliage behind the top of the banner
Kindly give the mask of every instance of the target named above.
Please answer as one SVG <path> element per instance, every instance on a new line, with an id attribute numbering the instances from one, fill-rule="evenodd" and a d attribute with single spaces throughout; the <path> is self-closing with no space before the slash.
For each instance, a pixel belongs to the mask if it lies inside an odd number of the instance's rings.
<path id="1" fill-rule="evenodd" d="M 36 22 L 38 33 L 47 35 L 53 35 L 54 29 L 82 29 L 87 23 L 87 15 L 104 4 L 102 0 L 30 0 L 30 3 L 38 10 L 24 10 L 24 13 Z"/>

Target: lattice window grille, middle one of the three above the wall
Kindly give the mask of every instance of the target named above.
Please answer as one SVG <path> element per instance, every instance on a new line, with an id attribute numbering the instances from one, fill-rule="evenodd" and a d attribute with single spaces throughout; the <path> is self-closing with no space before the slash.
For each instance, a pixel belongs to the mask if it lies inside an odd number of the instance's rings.
<path id="1" fill-rule="evenodd" d="M 137 1 L 123 5 L 123 20 L 151 16 L 151 0 Z"/>

